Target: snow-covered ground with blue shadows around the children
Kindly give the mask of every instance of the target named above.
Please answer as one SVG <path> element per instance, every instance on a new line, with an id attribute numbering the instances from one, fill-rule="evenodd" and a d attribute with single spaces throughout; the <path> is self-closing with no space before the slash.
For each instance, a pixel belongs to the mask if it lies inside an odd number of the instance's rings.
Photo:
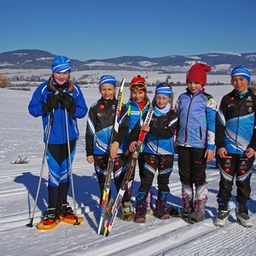
<path id="1" fill-rule="evenodd" d="M 130 81 L 131 76 L 125 79 Z M 225 77 L 224 82 L 227 80 Z M 219 103 L 232 86 L 208 86 L 206 89 Z M 217 212 L 219 179 L 213 160 L 207 168 L 209 200 L 204 222 L 189 225 L 181 218 L 160 220 L 148 216 L 146 224 L 135 224 L 118 218 L 108 237 L 97 236 L 99 189 L 94 168 L 86 162 L 84 153 L 86 118 L 79 120 L 80 138 L 73 162 L 75 200 L 84 222 L 78 226 L 61 223 L 54 230 L 37 230 L 36 224 L 48 201 L 46 164 L 34 226 L 26 227 L 34 205 L 44 153 L 41 119 L 33 118 L 27 111 L 33 90 L 0 90 L 0 255 L 255 255 L 255 227 L 245 229 L 237 223 L 235 196 L 230 203 L 229 223 L 224 228 L 217 228 L 212 223 Z M 173 91 L 177 99 L 184 87 L 174 87 Z M 97 89 L 83 89 L 83 93 L 88 107 L 100 97 Z M 128 97 L 129 91 L 126 89 L 125 102 Z M 23 165 L 11 164 L 19 160 L 18 155 L 27 157 L 29 162 Z M 153 191 L 156 193 L 155 185 L 154 181 Z M 138 186 L 137 174 L 134 196 L 137 195 Z M 256 178 L 253 173 L 250 217 L 254 225 L 255 188 Z M 168 205 L 180 206 L 181 184 L 177 174 L 177 156 L 170 177 L 170 189 Z M 233 193 L 236 193 L 236 187 Z M 69 201 L 73 205 L 71 189 Z"/>

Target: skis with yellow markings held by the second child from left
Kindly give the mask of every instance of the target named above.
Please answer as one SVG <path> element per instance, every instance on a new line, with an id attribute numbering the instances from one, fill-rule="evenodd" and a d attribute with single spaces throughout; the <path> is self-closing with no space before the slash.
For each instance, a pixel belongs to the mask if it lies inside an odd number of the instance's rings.
<path id="1" fill-rule="evenodd" d="M 114 123 L 113 123 L 113 131 L 111 135 L 111 144 L 113 143 L 114 136 L 119 132 L 119 120 L 121 119 L 121 108 L 123 104 L 123 91 L 125 87 L 125 79 L 122 79 L 121 85 L 119 87 L 118 94 L 118 105 L 116 108 Z M 103 235 L 104 226 L 105 226 L 105 217 L 108 208 L 108 195 L 111 187 L 111 174 L 113 172 L 114 159 L 112 157 L 108 157 L 108 166 L 106 172 L 106 180 L 104 184 L 103 194 L 102 194 L 102 203 L 101 203 L 101 214 L 100 214 L 100 222 L 98 227 L 98 235 Z"/>

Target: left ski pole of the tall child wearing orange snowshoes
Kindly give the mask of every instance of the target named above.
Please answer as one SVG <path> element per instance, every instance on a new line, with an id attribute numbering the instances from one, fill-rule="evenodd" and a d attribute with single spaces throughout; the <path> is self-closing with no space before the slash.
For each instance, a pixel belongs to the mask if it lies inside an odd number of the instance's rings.
<path id="1" fill-rule="evenodd" d="M 33 212 L 32 212 L 32 218 L 30 220 L 29 224 L 26 224 L 27 227 L 32 228 L 33 226 L 33 219 L 34 219 L 34 215 L 36 212 L 36 207 L 37 207 L 37 203 L 38 203 L 38 195 L 39 195 L 39 190 L 40 190 L 40 186 L 41 186 L 41 182 L 42 182 L 42 177 L 43 177 L 43 172 L 44 172 L 44 162 L 45 162 L 45 155 L 46 155 L 46 151 L 48 148 L 48 144 L 49 144 L 49 134 L 51 131 L 51 127 L 53 125 L 53 114 L 54 114 L 55 110 L 53 109 L 51 113 L 49 113 L 49 119 L 48 119 L 48 131 L 47 131 L 47 135 L 46 135 L 46 143 L 44 146 L 44 155 L 43 155 L 43 161 L 42 161 L 42 166 L 41 166 L 41 172 L 40 172 L 40 177 L 39 177 L 39 182 L 38 182 L 38 191 L 37 191 L 37 195 L 36 195 L 36 200 L 34 202 L 34 207 L 33 207 Z"/>

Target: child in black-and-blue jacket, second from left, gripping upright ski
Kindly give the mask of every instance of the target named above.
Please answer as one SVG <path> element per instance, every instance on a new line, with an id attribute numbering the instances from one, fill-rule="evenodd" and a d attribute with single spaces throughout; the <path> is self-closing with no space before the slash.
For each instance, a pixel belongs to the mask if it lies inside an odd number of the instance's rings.
<path id="1" fill-rule="evenodd" d="M 123 181 L 126 165 L 125 154 L 123 153 L 123 142 L 128 134 L 127 108 L 125 105 L 121 108 L 121 119 L 119 120 L 119 132 L 111 137 L 113 132 L 113 122 L 115 118 L 118 101 L 115 99 L 116 79 L 113 76 L 104 75 L 99 83 L 99 90 L 102 94 L 101 99 L 95 102 L 89 110 L 87 127 L 86 127 L 86 156 L 87 161 L 94 163 L 98 183 L 102 193 L 106 178 L 109 155 L 115 159 L 113 167 L 113 178 L 116 189 L 119 190 Z M 125 192 L 124 201 L 128 193 Z M 106 218 L 112 210 L 111 193 L 108 197 L 108 209 Z"/>

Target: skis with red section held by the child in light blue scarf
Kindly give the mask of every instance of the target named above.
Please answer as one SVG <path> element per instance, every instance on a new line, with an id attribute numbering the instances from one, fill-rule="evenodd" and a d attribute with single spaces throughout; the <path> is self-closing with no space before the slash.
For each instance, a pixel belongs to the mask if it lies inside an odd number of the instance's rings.
<path id="1" fill-rule="evenodd" d="M 150 107 L 148 108 L 148 113 L 147 113 L 147 116 L 144 120 L 143 125 L 149 125 L 149 123 L 152 119 L 153 113 L 154 113 L 154 100 L 151 102 Z M 119 193 L 116 197 L 116 200 L 114 201 L 113 208 L 112 208 L 112 213 L 108 218 L 108 223 L 106 224 L 106 227 L 105 227 L 105 230 L 104 230 L 104 236 L 108 236 L 109 233 L 110 233 L 110 230 L 113 227 L 114 220 L 116 219 L 116 216 L 119 212 L 119 207 L 121 206 L 123 197 L 125 195 L 125 189 L 127 188 L 127 184 L 130 181 L 133 169 L 136 166 L 137 158 L 138 158 L 141 146 L 143 144 L 143 141 L 144 141 L 146 135 L 147 135 L 147 131 L 140 131 L 140 134 L 139 134 L 139 137 L 138 137 L 137 148 L 131 154 L 131 160 L 130 160 L 130 163 L 128 164 L 128 166 L 127 166 L 127 169 L 126 169 L 126 172 L 125 172 L 125 177 L 124 177 L 123 182 L 121 184 L 121 187 L 119 189 Z"/>

